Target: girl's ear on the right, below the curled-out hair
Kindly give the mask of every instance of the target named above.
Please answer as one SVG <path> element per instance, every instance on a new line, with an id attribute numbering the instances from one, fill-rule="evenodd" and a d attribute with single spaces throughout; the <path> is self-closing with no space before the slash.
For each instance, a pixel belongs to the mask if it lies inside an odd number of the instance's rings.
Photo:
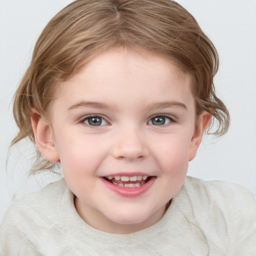
<path id="1" fill-rule="evenodd" d="M 211 119 L 211 114 L 207 111 L 202 111 L 198 117 L 197 123 L 194 127 L 194 133 L 191 138 L 188 160 L 191 161 L 197 152 L 201 143 L 204 130 L 208 127 Z"/>

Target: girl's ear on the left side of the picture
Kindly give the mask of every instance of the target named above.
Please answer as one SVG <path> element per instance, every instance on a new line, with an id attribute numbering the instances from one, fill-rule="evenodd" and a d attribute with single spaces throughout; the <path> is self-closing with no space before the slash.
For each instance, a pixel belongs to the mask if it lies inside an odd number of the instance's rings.
<path id="1" fill-rule="evenodd" d="M 49 161 L 59 160 L 51 126 L 42 118 L 36 109 L 31 109 L 30 119 L 35 143 L 42 155 Z"/>

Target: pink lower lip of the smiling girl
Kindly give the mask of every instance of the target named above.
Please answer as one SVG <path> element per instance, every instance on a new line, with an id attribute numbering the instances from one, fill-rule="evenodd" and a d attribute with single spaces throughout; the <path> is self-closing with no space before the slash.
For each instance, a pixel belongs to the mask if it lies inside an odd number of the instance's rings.
<path id="1" fill-rule="evenodd" d="M 111 182 L 105 180 L 104 178 L 101 178 L 102 182 L 108 189 L 124 197 L 140 196 L 152 186 L 155 179 L 156 177 L 151 177 L 146 183 L 138 187 L 122 187 L 122 186 L 114 185 Z"/>

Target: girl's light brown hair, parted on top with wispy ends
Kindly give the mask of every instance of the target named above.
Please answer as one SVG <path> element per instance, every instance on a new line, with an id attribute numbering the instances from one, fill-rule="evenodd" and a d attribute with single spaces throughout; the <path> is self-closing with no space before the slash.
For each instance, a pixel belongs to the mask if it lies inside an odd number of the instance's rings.
<path id="1" fill-rule="evenodd" d="M 218 54 L 194 17 L 171 0 L 76 0 L 58 12 L 40 34 L 31 63 L 16 91 L 13 114 L 19 132 L 34 142 L 31 108 L 46 115 L 59 81 L 68 79 L 95 54 L 110 47 L 145 49 L 174 60 L 193 78 L 196 114 L 210 112 L 222 135 L 229 114 L 215 95 Z M 33 170 L 52 169 L 37 150 Z"/>

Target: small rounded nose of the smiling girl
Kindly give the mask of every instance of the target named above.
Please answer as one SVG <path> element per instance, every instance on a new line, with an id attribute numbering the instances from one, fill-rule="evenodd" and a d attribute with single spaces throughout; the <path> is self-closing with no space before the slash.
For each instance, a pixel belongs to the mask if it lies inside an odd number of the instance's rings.
<path id="1" fill-rule="evenodd" d="M 115 158 L 125 158 L 128 160 L 143 159 L 148 153 L 145 138 L 138 129 L 122 129 L 114 137 L 112 154 Z"/>

